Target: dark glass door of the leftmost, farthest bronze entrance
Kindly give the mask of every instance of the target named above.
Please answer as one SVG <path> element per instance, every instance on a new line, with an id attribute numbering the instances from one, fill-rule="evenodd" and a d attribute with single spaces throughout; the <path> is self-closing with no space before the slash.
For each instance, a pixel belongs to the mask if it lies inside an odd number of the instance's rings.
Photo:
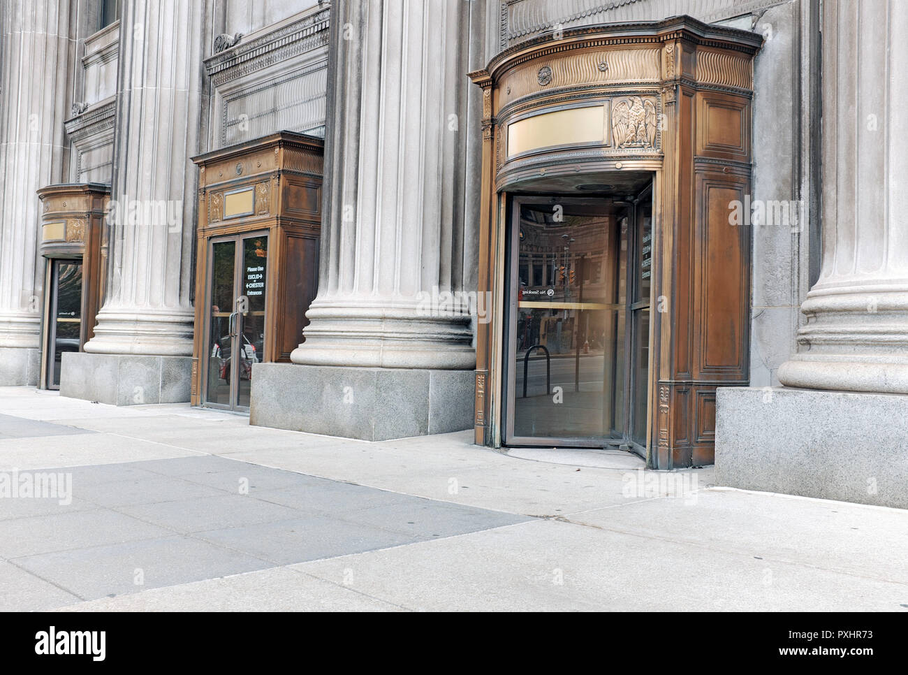
<path id="1" fill-rule="evenodd" d="M 78 352 L 82 339 L 82 261 L 51 260 L 47 388 L 60 389 L 63 352 Z"/>

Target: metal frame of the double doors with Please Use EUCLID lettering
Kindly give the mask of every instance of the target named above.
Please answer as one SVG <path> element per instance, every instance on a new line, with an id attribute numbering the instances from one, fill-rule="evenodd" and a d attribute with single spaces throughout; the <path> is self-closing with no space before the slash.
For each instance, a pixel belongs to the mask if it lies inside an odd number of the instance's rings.
<path id="1" fill-rule="evenodd" d="M 252 239 L 254 237 L 265 237 L 268 239 L 268 255 L 265 257 L 265 296 L 264 296 L 264 307 L 265 307 L 265 330 L 268 330 L 268 300 L 269 293 L 271 293 L 270 286 L 271 283 L 268 283 L 268 267 L 270 252 L 271 252 L 271 230 L 269 228 L 262 228 L 258 230 L 247 230 L 238 233 L 231 234 L 218 234 L 212 237 L 208 237 L 205 243 L 205 255 L 207 256 L 206 267 L 207 267 L 207 279 L 205 280 L 205 304 L 204 312 L 202 313 L 202 344 L 206 345 L 201 353 L 201 399 L 199 405 L 205 408 L 212 408 L 215 410 L 222 410 L 225 412 L 238 412 L 242 414 L 248 414 L 250 408 L 248 406 L 242 406 L 239 404 L 240 400 L 240 377 L 239 369 L 241 358 L 236 358 L 235 354 L 237 353 L 237 346 L 239 345 L 242 350 L 242 314 L 237 313 L 236 303 L 239 300 L 242 293 L 242 243 L 246 239 Z M 212 298 L 213 298 L 213 284 L 214 284 L 214 265 L 212 260 L 214 257 L 214 244 L 216 243 L 225 243 L 225 242 L 234 242 L 235 246 L 233 249 L 233 303 L 231 308 L 231 314 L 237 313 L 236 318 L 236 334 L 231 337 L 231 382 L 230 382 L 230 400 L 228 404 L 224 403 L 213 403 L 208 401 L 208 373 L 211 368 L 211 359 L 212 353 L 210 346 L 211 345 L 211 330 L 212 330 Z M 229 325 L 229 323 L 228 323 Z M 262 341 L 264 344 L 264 341 Z M 262 358 L 264 357 L 264 349 L 262 349 Z"/>

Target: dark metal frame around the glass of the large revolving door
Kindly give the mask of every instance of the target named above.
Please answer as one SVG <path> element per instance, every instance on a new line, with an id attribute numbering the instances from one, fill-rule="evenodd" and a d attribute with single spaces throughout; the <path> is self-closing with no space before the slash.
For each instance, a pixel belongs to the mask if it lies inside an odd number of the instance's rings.
<path id="1" fill-rule="evenodd" d="M 636 254 L 638 252 L 638 228 L 637 228 L 637 210 L 639 203 L 646 199 L 648 194 L 649 199 L 652 200 L 654 193 L 654 184 L 656 183 L 656 173 L 654 172 L 650 183 L 637 194 L 635 194 L 634 200 L 627 205 L 627 218 L 628 218 L 628 227 L 631 228 L 628 236 L 628 249 L 627 252 L 627 270 L 625 271 L 625 282 L 627 288 L 627 300 L 625 302 L 625 311 L 627 313 L 627 319 L 625 321 L 624 335 L 621 339 L 625 342 L 625 368 L 620 386 L 624 389 L 624 402 L 622 404 L 622 409 L 620 414 L 622 415 L 625 432 L 622 437 L 611 436 L 612 430 L 604 430 L 603 435 L 597 438 L 593 437 L 534 437 L 534 436 L 514 436 L 511 434 L 511 431 L 514 428 L 514 407 L 517 395 L 517 378 L 515 369 L 516 358 L 517 358 L 517 344 L 516 340 L 512 339 L 513 331 L 516 330 L 517 326 L 517 310 L 518 310 L 518 294 L 514 292 L 514 283 L 518 279 L 518 269 L 519 269 L 519 237 L 515 236 L 515 231 L 519 225 L 519 215 L 518 209 L 523 203 L 534 203 L 534 202 L 544 202 L 551 200 L 553 198 L 557 199 L 556 203 L 565 204 L 565 205 L 574 205 L 574 206 L 596 206 L 598 203 L 606 198 L 607 195 L 598 195 L 598 196 L 576 196 L 576 195 L 566 195 L 561 193 L 534 193 L 534 194 L 521 194 L 521 193 L 501 193 L 500 197 L 507 201 L 504 204 L 504 223 L 503 227 L 505 230 L 505 245 L 504 245 L 504 267 L 505 274 L 502 283 L 502 290 L 504 297 L 502 302 L 504 303 L 504 312 L 502 313 L 502 324 L 500 340 L 501 343 L 498 347 L 499 353 L 502 355 L 502 376 L 501 376 L 501 445 L 504 447 L 565 447 L 565 448 L 594 448 L 594 449 L 603 449 L 603 448 L 625 448 L 630 449 L 634 447 L 635 452 L 637 453 L 646 453 L 645 448 L 639 445 L 639 443 L 634 442 L 631 435 L 630 424 L 633 421 L 632 416 L 632 407 L 633 402 L 631 400 L 631 393 L 633 389 L 633 377 L 634 374 L 631 372 L 630 364 L 632 348 L 634 346 L 633 342 L 633 326 L 631 325 L 631 319 L 633 316 L 632 305 L 634 303 L 630 302 L 632 299 L 632 289 L 634 286 L 633 283 L 636 283 L 633 273 L 635 272 L 636 265 Z M 651 203 L 651 202 L 650 202 Z M 652 204 L 652 203 L 651 203 Z M 655 210 L 654 210 L 655 213 Z M 655 220 L 651 219 L 653 226 L 653 234 L 650 238 L 652 242 L 653 238 L 656 235 L 655 232 Z M 632 256 L 635 256 L 632 258 Z M 631 260 L 634 260 L 635 263 L 632 265 Z M 649 306 L 652 307 L 652 294 L 653 294 L 654 284 L 650 283 L 650 297 L 649 297 Z M 648 423 L 650 419 L 650 382 L 648 380 L 652 379 L 652 321 L 650 321 L 650 332 L 646 336 L 646 339 L 649 343 L 649 348 L 647 349 L 647 354 L 649 355 L 648 363 L 648 377 L 646 386 L 646 425 L 648 430 Z M 612 385 L 614 386 L 614 385 Z M 550 392 L 549 392 L 550 393 Z M 647 432 L 648 433 L 648 432 Z"/>

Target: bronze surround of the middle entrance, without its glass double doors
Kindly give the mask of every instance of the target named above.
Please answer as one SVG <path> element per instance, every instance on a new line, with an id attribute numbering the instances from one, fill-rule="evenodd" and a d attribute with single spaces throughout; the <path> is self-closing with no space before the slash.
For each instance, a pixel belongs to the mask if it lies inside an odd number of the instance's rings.
<path id="1" fill-rule="evenodd" d="M 302 341 L 318 284 L 323 152 L 320 138 L 280 132 L 192 158 L 200 172 L 192 405 L 202 396 L 212 237 L 268 233 L 262 361 L 289 362 Z"/>

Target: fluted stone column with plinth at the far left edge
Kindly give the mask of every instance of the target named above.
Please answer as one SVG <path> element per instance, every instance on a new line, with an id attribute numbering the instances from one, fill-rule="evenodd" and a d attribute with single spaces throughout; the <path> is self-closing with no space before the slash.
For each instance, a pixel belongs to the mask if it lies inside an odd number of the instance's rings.
<path id="1" fill-rule="evenodd" d="M 0 386 L 38 378 L 44 264 L 35 191 L 63 181 L 69 0 L 0 7 Z"/>

